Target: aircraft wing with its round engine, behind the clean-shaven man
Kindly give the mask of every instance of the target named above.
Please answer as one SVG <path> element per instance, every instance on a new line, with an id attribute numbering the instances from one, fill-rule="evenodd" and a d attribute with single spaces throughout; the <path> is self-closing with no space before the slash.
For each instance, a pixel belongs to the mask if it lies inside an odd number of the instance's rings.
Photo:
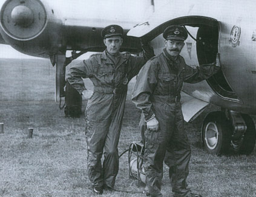
<path id="1" fill-rule="evenodd" d="M 104 11 L 97 6 L 100 2 L 63 1 L 60 10 L 59 1 L 5 1 L 0 13 L 0 42 L 24 54 L 45 58 L 65 54 L 67 50 L 103 51 L 100 33 L 104 27 L 117 24 L 126 33 L 137 22 L 135 17 L 127 19 L 120 18 L 122 14 L 107 13 L 106 8 Z M 131 9 L 134 8 L 120 9 L 119 13 Z M 140 49 L 139 39 L 125 37 L 121 51 Z"/>

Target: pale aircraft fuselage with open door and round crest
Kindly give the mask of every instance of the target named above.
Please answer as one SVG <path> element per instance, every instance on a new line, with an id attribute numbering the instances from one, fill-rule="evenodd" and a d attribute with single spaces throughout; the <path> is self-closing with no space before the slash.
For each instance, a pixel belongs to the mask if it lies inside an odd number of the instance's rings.
<path id="1" fill-rule="evenodd" d="M 181 6 L 182 5 L 182 6 Z M 145 36 L 156 54 L 162 52 L 163 30 L 185 25 L 191 36 L 181 55 L 190 66 L 213 63 L 220 53 L 222 73 L 183 91 L 202 101 L 241 113 L 256 114 L 256 17 L 254 1 L 170 1 L 129 36 Z"/>

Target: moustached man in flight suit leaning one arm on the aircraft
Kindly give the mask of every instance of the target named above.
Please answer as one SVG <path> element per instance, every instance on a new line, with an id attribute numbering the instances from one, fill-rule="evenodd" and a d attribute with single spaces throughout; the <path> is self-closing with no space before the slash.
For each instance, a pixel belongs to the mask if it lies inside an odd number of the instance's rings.
<path id="1" fill-rule="evenodd" d="M 201 196 L 191 193 L 186 183 L 191 148 L 184 131 L 180 91 L 183 82 L 197 83 L 205 80 L 220 67 L 208 64 L 194 69 L 186 65 L 179 54 L 188 33 L 180 25 L 166 28 L 163 37 L 163 52 L 142 67 L 132 98 L 136 107 L 142 110 L 146 124 L 143 163 L 146 195 L 162 196 L 160 189 L 165 160 L 169 166 L 174 196 Z"/>

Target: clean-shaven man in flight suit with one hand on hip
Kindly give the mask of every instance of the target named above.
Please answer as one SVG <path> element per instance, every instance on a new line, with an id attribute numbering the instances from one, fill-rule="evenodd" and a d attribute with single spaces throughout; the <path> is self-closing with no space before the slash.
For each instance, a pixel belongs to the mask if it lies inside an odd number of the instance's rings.
<path id="1" fill-rule="evenodd" d="M 67 80 L 71 86 L 89 99 L 85 110 L 88 177 L 93 184 L 93 192 L 98 194 L 103 189 L 113 189 L 119 169 L 117 145 L 127 84 L 139 73 L 143 64 L 154 56 L 153 48 L 147 44 L 142 45 L 143 55 L 140 57 L 119 52 L 123 42 L 123 29 L 118 25 L 105 27 L 102 37 L 107 49 L 70 67 L 67 72 Z M 85 88 L 82 78 L 90 78 L 94 92 Z"/>

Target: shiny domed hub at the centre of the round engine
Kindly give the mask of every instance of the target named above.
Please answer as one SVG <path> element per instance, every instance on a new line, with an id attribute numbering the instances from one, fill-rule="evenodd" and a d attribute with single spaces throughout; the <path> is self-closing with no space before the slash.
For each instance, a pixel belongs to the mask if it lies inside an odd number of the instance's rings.
<path id="1" fill-rule="evenodd" d="M 34 20 L 33 11 L 24 5 L 18 5 L 11 11 L 11 20 L 19 27 L 29 27 Z"/>

